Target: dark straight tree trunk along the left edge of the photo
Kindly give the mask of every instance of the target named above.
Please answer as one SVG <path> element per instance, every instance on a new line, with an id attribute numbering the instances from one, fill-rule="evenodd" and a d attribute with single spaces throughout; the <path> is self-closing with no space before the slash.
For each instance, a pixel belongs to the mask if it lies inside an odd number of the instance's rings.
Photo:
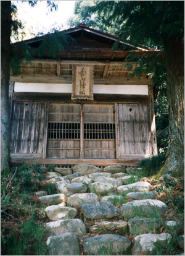
<path id="1" fill-rule="evenodd" d="M 1 1 L 1 169 L 10 164 L 10 24 L 11 2 Z"/>

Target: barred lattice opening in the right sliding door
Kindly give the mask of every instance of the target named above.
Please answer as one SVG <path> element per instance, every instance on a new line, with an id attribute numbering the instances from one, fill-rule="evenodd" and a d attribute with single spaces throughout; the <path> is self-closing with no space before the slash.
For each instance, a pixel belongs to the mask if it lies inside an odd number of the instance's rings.
<path id="1" fill-rule="evenodd" d="M 115 124 L 85 123 L 84 124 L 84 139 L 114 140 L 115 139 Z"/>

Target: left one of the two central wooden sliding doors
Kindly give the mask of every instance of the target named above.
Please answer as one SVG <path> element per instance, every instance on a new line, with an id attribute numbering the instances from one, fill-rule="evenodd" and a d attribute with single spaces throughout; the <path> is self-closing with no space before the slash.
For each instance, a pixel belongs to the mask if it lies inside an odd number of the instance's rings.
<path id="1" fill-rule="evenodd" d="M 49 105 L 47 158 L 80 158 L 80 104 Z"/>

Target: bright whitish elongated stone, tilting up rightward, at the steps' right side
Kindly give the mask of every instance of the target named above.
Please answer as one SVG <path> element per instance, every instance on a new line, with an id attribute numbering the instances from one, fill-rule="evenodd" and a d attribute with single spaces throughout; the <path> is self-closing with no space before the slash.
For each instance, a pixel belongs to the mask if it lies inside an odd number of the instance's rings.
<path id="1" fill-rule="evenodd" d="M 129 192 L 143 192 L 149 191 L 151 189 L 151 185 L 149 182 L 146 181 L 138 181 L 134 182 L 133 184 L 123 185 L 117 187 L 118 194 L 128 194 Z"/>

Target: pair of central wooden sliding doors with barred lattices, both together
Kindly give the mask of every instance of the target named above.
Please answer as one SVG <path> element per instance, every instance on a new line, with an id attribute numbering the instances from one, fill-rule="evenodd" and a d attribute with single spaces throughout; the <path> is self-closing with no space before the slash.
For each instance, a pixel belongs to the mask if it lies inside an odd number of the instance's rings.
<path id="1" fill-rule="evenodd" d="M 49 105 L 47 158 L 115 156 L 113 105 Z"/>

